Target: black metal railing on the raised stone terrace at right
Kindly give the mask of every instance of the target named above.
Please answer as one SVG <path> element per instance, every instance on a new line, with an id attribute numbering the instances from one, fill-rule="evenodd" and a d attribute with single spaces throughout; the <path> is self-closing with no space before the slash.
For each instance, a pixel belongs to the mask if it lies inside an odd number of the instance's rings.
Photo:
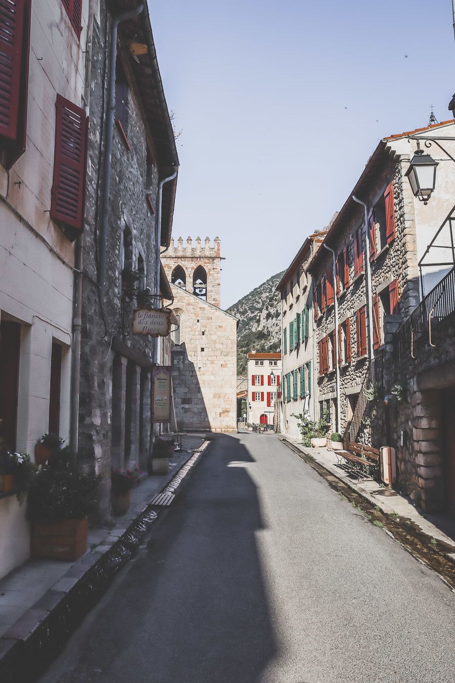
<path id="1" fill-rule="evenodd" d="M 440 322 L 455 311 L 455 268 L 428 292 L 403 322 L 394 335 L 394 356 L 401 365 L 409 356 L 415 359 L 416 345 L 421 339 L 432 343 L 432 324 Z"/>

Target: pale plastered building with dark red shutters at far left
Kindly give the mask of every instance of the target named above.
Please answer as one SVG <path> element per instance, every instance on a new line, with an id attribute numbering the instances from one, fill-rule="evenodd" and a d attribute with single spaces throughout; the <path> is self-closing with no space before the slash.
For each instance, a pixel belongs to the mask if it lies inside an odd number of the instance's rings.
<path id="1" fill-rule="evenodd" d="M 32 460 L 42 434 L 70 434 L 89 2 L 71 16 L 65 8 L 12 0 L 0 12 L 0 436 Z M 68 156 L 71 200 L 62 206 Z M 29 557 L 29 545 L 25 505 L 0 492 L 0 576 Z"/>

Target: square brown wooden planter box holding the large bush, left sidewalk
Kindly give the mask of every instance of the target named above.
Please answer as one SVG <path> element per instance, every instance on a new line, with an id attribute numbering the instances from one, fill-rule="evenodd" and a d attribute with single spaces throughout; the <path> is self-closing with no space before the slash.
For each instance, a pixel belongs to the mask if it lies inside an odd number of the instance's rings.
<path id="1" fill-rule="evenodd" d="M 87 519 L 32 522 L 31 557 L 76 560 L 87 550 Z"/>

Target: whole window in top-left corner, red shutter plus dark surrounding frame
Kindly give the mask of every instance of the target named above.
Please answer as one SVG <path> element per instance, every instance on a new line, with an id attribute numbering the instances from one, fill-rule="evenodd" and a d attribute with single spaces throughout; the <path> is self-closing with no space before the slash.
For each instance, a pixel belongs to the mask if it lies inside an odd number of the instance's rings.
<path id="1" fill-rule="evenodd" d="M 0 158 L 8 170 L 27 139 L 31 0 L 1 0 L 0 7 Z"/>

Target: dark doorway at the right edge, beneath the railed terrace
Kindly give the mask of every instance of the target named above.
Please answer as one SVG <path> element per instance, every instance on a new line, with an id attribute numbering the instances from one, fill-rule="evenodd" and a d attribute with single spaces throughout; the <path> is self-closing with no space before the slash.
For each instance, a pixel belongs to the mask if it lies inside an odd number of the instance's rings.
<path id="1" fill-rule="evenodd" d="M 455 387 L 441 391 L 441 436 L 445 501 L 455 516 Z"/>

